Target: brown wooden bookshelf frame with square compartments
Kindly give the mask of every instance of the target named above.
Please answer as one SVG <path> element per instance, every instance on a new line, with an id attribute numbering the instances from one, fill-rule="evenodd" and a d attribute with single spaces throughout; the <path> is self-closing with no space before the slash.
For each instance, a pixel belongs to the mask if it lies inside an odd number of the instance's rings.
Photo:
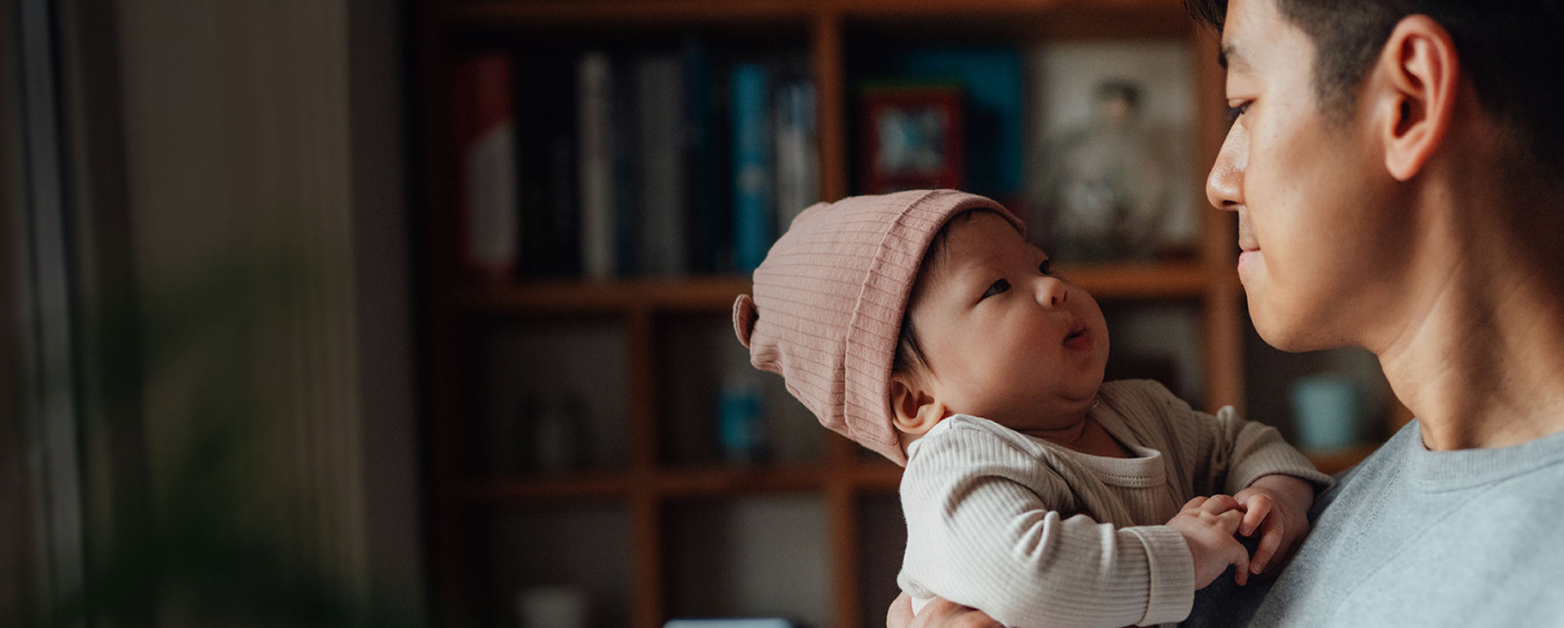
<path id="1" fill-rule="evenodd" d="M 450 137 L 450 89 L 446 70 L 463 52 L 533 39 L 580 39 L 626 45 L 669 39 L 685 30 L 702 34 L 751 33 L 780 37 L 809 56 L 816 87 L 821 197 L 840 198 L 849 181 L 849 73 L 846 50 L 860 33 L 913 31 L 952 41 L 993 36 L 1007 42 L 1049 39 L 1129 39 L 1156 36 L 1186 41 L 1195 50 L 1196 145 L 1189 159 L 1209 164 L 1226 128 L 1215 45 L 1182 12 L 1179 0 L 418 0 L 413 11 L 413 84 L 418 98 L 421 161 L 414 170 L 422 230 L 422 347 L 427 359 L 424 425 L 429 439 L 427 492 L 430 564 L 438 625 L 465 626 L 485 617 L 480 600 L 490 583 L 474 581 L 472 561 L 493 548 L 475 541 L 472 523 L 496 511 L 546 512 L 577 503 L 610 503 L 629 522 L 632 539 L 629 608 L 633 628 L 658 628 L 671 606 L 668 511 L 687 500 L 737 500 L 754 495 L 816 497 L 829 555 L 823 578 L 832 592 L 829 619 L 815 628 L 876 625 L 890 601 L 870 597 L 863 584 L 865 498 L 893 498 L 901 470 L 863 456 L 857 445 L 824 436 L 816 461 L 779 466 L 677 466 L 665 461 L 666 417 L 660 412 L 660 320 L 680 316 L 721 319 L 734 298 L 749 291 L 738 277 L 474 283 L 457 270 L 455 141 Z M 596 39 L 594 39 L 596 37 Z M 482 44 L 479 44 L 482 42 Z M 1200 169 L 1196 169 L 1200 170 Z M 1200 189 L 1200 186 L 1196 186 Z M 1203 198 L 1200 200 L 1203 206 Z M 1232 219 L 1201 212 L 1201 239 L 1189 261 L 1114 266 L 1060 266 L 1098 300 L 1125 303 L 1193 303 L 1201 320 L 1204 400 L 1211 408 L 1240 405 L 1243 391 L 1242 289 L 1234 273 Z M 622 337 L 622 380 L 629 450 L 621 467 L 565 475 L 482 476 L 465 466 L 463 428 L 477 419 L 465 406 L 463 386 L 474 373 L 465 351 L 480 323 L 557 325 L 608 320 Z M 1322 458 L 1345 464 L 1345 458 Z M 515 622 L 496 622 L 513 625 Z"/>

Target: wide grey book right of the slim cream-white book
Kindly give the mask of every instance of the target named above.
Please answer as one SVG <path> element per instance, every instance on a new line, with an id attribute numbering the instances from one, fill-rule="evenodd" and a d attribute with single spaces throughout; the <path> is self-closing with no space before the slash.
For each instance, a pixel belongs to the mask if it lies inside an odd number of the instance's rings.
<path id="1" fill-rule="evenodd" d="M 685 275 L 687 245 L 683 69 L 676 55 L 644 55 L 635 61 L 640 106 L 638 272 Z"/>

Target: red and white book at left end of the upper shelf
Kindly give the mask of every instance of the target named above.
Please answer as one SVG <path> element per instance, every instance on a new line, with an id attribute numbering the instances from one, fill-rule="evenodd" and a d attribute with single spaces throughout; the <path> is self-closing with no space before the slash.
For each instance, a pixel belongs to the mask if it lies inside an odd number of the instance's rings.
<path id="1" fill-rule="evenodd" d="M 463 59 L 452 72 L 460 177 L 460 264 L 507 280 L 519 255 L 511 62 L 502 53 Z"/>

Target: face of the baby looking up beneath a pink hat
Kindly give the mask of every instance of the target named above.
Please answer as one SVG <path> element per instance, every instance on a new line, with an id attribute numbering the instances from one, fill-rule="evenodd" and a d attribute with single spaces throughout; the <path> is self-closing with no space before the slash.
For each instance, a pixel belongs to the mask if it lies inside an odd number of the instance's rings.
<path id="1" fill-rule="evenodd" d="M 945 253 L 910 308 L 946 409 L 1020 431 L 1087 411 L 1107 362 L 1092 295 L 1051 275 L 1048 256 L 990 212 L 952 222 Z"/>

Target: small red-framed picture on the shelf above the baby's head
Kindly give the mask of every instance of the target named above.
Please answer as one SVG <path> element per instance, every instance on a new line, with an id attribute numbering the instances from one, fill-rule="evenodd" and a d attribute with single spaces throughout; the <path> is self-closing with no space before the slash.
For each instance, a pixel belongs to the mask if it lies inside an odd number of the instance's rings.
<path id="1" fill-rule="evenodd" d="M 962 184 L 959 86 L 866 84 L 859 109 L 865 194 Z"/>

